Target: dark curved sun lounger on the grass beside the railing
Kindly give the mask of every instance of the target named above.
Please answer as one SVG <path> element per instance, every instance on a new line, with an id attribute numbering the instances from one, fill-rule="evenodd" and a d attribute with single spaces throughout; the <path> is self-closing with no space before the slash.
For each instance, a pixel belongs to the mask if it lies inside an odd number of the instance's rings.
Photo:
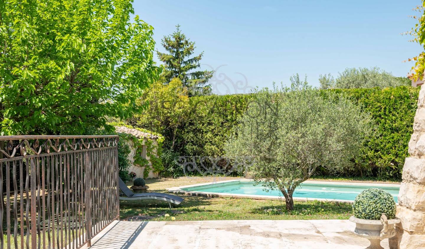
<path id="1" fill-rule="evenodd" d="M 144 200 L 144 199 L 154 199 L 154 200 L 163 200 L 178 205 L 180 204 L 184 199 L 181 197 L 178 197 L 176 195 L 169 195 L 169 194 L 163 194 L 163 193 L 133 193 L 131 189 L 125 185 L 124 181 L 119 178 L 119 189 L 124 193 L 125 197 L 119 197 L 120 200 Z"/>

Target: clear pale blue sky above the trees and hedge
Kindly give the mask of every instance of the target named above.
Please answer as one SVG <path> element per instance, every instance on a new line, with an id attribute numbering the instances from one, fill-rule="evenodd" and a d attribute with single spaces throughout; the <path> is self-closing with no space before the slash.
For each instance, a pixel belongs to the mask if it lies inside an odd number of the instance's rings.
<path id="1" fill-rule="evenodd" d="M 421 52 L 408 42 L 419 0 L 172 1 L 135 0 L 135 14 L 155 29 L 156 47 L 176 24 L 204 51 L 201 69 L 217 69 L 219 83 L 272 86 L 292 74 L 337 77 L 346 67 L 378 66 L 405 76 Z M 157 58 L 156 58 L 157 60 Z M 226 66 L 222 66 L 226 65 Z M 242 83 L 243 82 L 243 83 Z M 221 86 L 223 87 L 223 86 Z M 235 93 L 230 87 L 228 93 Z M 224 90 L 217 91 L 226 93 Z M 244 88 L 236 90 L 243 93 Z"/>

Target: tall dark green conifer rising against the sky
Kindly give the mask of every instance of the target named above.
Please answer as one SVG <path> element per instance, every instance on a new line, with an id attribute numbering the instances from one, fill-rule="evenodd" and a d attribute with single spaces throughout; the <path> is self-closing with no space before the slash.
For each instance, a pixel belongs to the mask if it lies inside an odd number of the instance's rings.
<path id="1" fill-rule="evenodd" d="M 165 65 L 165 70 L 161 74 L 161 82 L 168 83 L 173 78 L 178 78 L 182 85 L 188 88 L 190 95 L 210 94 L 211 86 L 207 85 L 207 82 L 214 72 L 193 71 L 201 66 L 199 62 L 204 52 L 190 58 L 196 48 L 195 42 L 186 38 L 179 25 L 176 27 L 177 30 L 173 34 L 164 36 L 161 40 L 161 44 L 168 54 L 156 51 L 159 60 Z"/>

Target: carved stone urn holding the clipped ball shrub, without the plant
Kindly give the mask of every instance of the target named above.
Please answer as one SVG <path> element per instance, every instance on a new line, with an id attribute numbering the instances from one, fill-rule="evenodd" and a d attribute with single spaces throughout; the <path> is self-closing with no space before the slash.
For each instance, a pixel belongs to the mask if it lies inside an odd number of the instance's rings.
<path id="1" fill-rule="evenodd" d="M 369 249 L 383 249 L 381 246 L 381 240 L 385 238 L 391 238 L 396 235 L 394 224 L 400 222 L 399 218 L 387 219 L 385 214 L 382 214 L 380 220 L 365 220 L 350 217 L 350 221 L 356 223 L 356 229 L 354 233 L 368 239 L 371 244 L 367 248 Z"/>

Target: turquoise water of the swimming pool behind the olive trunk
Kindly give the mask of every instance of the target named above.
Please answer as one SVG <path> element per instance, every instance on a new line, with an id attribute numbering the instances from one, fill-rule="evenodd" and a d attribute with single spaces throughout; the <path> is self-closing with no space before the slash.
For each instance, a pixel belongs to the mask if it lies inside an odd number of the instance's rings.
<path id="1" fill-rule="evenodd" d="M 317 184 L 317 183 L 301 183 L 295 189 L 293 197 L 321 198 L 321 199 L 338 199 L 338 200 L 354 200 L 354 198 L 365 189 L 380 188 L 389 192 L 397 202 L 399 187 L 377 187 L 377 186 L 354 186 L 343 184 Z M 262 185 L 254 186 L 252 181 L 233 181 L 228 183 L 212 183 L 204 186 L 195 186 L 182 188 L 186 191 L 212 192 L 212 193 L 229 193 L 229 194 L 245 194 L 245 195 L 265 195 L 265 196 L 283 196 L 280 191 L 271 190 L 266 192 L 266 187 Z"/>

